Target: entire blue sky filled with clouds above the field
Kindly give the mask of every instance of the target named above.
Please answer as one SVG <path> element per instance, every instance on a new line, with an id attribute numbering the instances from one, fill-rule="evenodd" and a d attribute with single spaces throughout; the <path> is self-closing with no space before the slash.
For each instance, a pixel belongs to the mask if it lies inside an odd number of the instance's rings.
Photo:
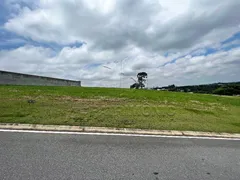
<path id="1" fill-rule="evenodd" d="M 0 0 L 0 70 L 126 88 L 142 71 L 148 87 L 240 81 L 239 9 L 239 0 Z"/>

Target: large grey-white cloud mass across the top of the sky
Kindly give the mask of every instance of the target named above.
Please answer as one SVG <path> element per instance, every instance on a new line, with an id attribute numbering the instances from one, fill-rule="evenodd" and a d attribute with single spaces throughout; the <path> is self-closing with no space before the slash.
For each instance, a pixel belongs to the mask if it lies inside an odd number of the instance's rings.
<path id="1" fill-rule="evenodd" d="M 100 50 L 135 44 L 159 51 L 191 48 L 219 36 L 226 38 L 238 31 L 240 24 L 238 0 L 218 1 L 216 6 L 208 1 L 190 3 L 187 10 L 167 22 L 165 16 L 171 16 L 172 11 L 164 11 L 158 0 L 86 2 L 40 0 L 39 8 L 23 7 L 5 28 L 37 41 L 88 42 Z"/>

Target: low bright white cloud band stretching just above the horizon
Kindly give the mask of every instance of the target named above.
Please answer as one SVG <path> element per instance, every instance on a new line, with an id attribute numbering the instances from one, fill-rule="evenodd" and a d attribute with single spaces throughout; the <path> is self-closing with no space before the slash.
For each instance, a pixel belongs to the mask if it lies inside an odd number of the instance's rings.
<path id="1" fill-rule="evenodd" d="M 134 51 L 130 49 L 130 51 Z M 103 56 L 90 56 L 87 47 L 63 48 L 53 55 L 47 48 L 24 46 L 14 50 L 0 51 L 0 66 L 3 70 L 54 76 L 59 78 L 80 79 L 83 85 L 119 86 L 121 63 L 103 61 Z M 106 53 L 107 54 L 107 53 Z M 127 52 L 126 54 L 131 54 Z M 121 56 L 121 55 L 120 55 Z M 169 58 L 169 57 L 168 57 Z M 133 81 L 139 71 L 149 73 L 149 85 L 198 84 L 199 82 L 216 82 L 238 80 L 240 76 L 240 48 L 229 52 L 218 52 L 207 56 L 185 56 L 175 63 L 163 64 L 168 59 L 163 56 L 129 57 L 123 61 L 124 87 Z M 92 62 L 93 66 L 89 67 Z M 94 63 L 101 62 L 109 67 Z M 219 76 L 221 79 L 219 79 Z"/>

